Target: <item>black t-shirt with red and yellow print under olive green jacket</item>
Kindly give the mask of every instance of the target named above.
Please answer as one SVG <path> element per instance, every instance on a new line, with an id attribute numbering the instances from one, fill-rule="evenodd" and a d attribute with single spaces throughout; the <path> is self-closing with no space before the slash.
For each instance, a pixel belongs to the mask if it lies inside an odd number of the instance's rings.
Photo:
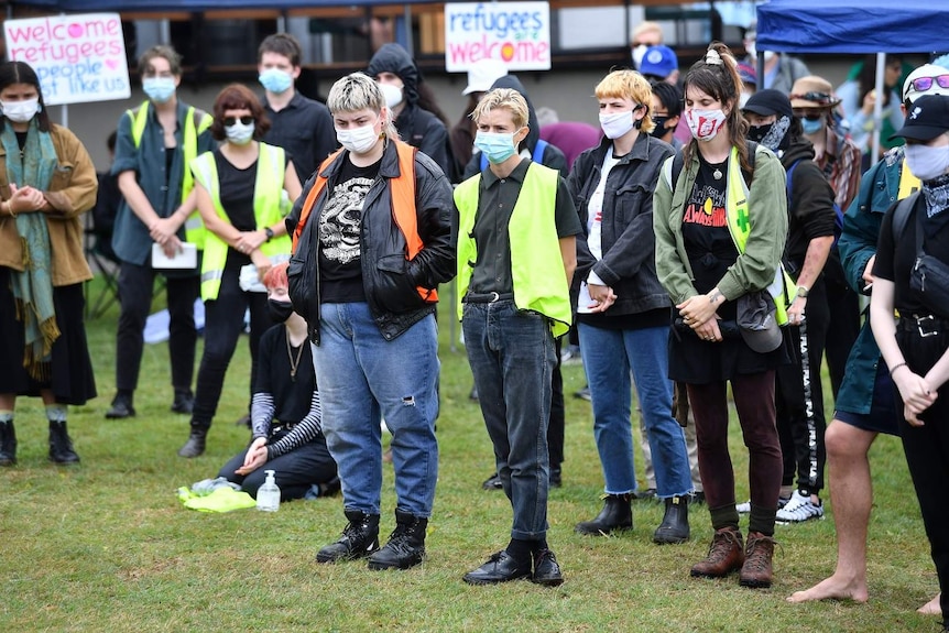
<path id="1" fill-rule="evenodd" d="M 696 277 L 696 290 L 707 293 L 716 287 L 728 268 L 735 262 L 738 249 L 726 218 L 728 160 L 710 164 L 701 153 L 698 156 L 699 173 L 683 215 L 683 239 Z M 722 304 L 718 314 L 723 319 L 735 318 L 734 302 Z"/>

